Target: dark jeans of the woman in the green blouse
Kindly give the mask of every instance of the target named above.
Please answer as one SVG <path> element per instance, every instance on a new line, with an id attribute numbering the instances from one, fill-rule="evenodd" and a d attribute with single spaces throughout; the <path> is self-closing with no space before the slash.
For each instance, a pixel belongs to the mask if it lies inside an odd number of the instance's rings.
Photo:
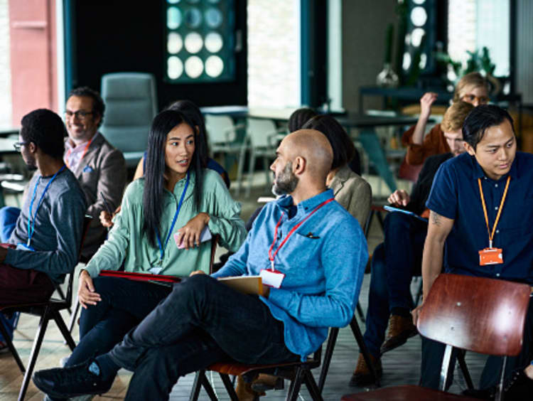
<path id="1" fill-rule="evenodd" d="M 102 301 L 82 309 L 80 343 L 65 366 L 110 351 L 171 292 L 169 287 L 117 277 L 95 277 L 93 283 Z"/>

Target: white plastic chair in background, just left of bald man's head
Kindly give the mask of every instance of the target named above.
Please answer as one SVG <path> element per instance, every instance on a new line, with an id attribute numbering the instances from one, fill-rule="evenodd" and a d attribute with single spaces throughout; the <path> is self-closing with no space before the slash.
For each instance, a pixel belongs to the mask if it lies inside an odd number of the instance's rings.
<path id="1" fill-rule="evenodd" d="M 248 168 L 248 187 L 245 196 L 248 198 L 254 176 L 255 159 L 259 156 L 263 161 L 266 174 L 266 186 L 270 186 L 270 163 L 276 155 L 277 143 L 286 134 L 286 129 L 276 129 L 271 119 L 247 119 L 247 134 L 250 148 L 250 163 Z"/>

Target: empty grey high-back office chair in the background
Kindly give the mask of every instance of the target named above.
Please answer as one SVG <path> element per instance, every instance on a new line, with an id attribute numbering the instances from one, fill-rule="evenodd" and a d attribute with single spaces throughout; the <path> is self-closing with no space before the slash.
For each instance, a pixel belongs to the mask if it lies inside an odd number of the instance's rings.
<path id="1" fill-rule="evenodd" d="M 146 150 L 149 130 L 157 112 L 156 82 L 146 73 L 102 75 L 104 122 L 99 128 L 104 137 L 134 168 Z"/>

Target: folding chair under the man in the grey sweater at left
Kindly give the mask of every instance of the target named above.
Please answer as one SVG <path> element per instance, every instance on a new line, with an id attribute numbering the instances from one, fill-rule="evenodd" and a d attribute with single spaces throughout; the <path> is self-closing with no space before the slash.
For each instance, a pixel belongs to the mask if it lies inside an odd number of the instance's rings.
<path id="1" fill-rule="evenodd" d="M 83 242 L 85 240 L 85 235 L 87 234 L 87 228 L 89 228 L 90 220 L 91 220 L 91 216 L 88 216 L 88 215 L 86 215 L 83 220 L 83 230 L 82 230 L 83 235 L 82 235 L 82 241 L 80 244 L 80 249 L 78 250 L 78 255 L 80 255 L 80 251 L 82 249 Z M 24 368 L 22 360 L 13 345 L 13 341 L 11 341 L 11 338 L 9 338 L 7 334 L 6 328 L 0 322 L 0 333 L 2 334 L 2 336 L 4 336 L 4 340 L 6 340 L 9 351 L 11 351 L 11 355 L 13 355 L 13 358 L 15 359 L 16 364 L 18 365 L 18 368 L 20 368 L 21 372 L 24 373 L 21 390 L 18 392 L 19 401 L 24 399 L 24 395 L 26 395 L 26 390 L 28 390 L 28 384 L 30 383 L 31 374 L 33 373 L 33 368 L 35 367 L 37 356 L 39 354 L 39 351 L 41 350 L 41 343 L 43 343 L 43 338 L 45 335 L 46 328 L 48 326 L 48 321 L 50 321 L 51 319 L 55 321 L 55 324 L 58 325 L 58 328 L 60 329 L 61 334 L 63 335 L 63 338 L 65 338 L 65 341 L 67 342 L 71 351 L 76 346 L 60 314 L 60 311 L 62 311 L 63 309 L 70 308 L 70 303 L 72 301 L 72 278 L 73 276 L 74 276 L 74 268 L 72 268 L 72 272 L 68 274 L 68 289 L 67 289 L 67 294 L 65 296 L 65 299 L 57 299 L 57 298 L 51 297 L 50 299 L 48 299 L 48 301 L 45 301 L 45 302 L 9 305 L 9 306 L 2 306 L 0 308 L 0 311 L 6 314 L 11 314 L 13 312 L 21 312 L 23 314 L 31 314 L 34 316 L 41 317 L 41 320 L 39 321 L 39 326 L 37 329 L 36 337 L 33 340 L 33 347 L 31 348 L 31 354 L 30 354 L 30 359 L 28 361 L 27 369 Z M 59 288 L 59 284 L 54 284 L 54 285 L 55 285 L 55 289 L 57 290 Z"/>

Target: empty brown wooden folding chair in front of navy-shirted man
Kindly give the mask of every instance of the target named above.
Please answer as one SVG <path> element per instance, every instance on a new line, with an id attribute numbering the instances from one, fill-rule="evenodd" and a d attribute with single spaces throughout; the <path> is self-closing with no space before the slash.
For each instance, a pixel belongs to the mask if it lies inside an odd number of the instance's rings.
<path id="1" fill-rule="evenodd" d="M 496 400 L 502 398 L 507 355 L 518 355 L 529 306 L 527 284 L 458 274 L 440 274 L 416 324 L 422 336 L 446 343 L 440 390 L 402 385 L 344 395 L 343 401 L 475 400 L 445 392 L 453 348 L 504 356 Z"/>

